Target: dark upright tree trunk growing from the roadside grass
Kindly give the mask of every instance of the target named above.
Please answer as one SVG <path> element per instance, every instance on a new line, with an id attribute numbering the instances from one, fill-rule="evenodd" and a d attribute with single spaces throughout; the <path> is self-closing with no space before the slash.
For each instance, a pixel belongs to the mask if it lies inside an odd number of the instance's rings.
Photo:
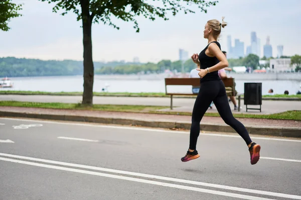
<path id="1" fill-rule="evenodd" d="M 89 0 L 80 0 L 83 22 L 83 47 L 84 47 L 84 92 L 82 104 L 93 104 L 94 64 L 92 58 L 92 17 L 89 13 Z"/>

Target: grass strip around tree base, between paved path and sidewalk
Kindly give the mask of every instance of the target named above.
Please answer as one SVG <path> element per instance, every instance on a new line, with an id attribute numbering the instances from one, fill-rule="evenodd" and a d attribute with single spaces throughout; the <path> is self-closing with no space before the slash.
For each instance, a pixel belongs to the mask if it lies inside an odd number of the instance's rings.
<path id="1" fill-rule="evenodd" d="M 40 103 L 40 102 L 22 102 L 22 101 L 0 101 L 0 106 L 16 107 L 38 107 L 52 109 L 80 109 L 80 110 L 105 110 L 122 112 L 143 112 L 157 114 L 178 114 L 191 115 L 191 112 L 172 112 L 160 111 L 160 109 L 169 108 L 169 106 L 148 106 L 148 105 L 104 105 L 94 104 L 93 106 L 83 106 L 80 103 Z M 276 114 L 238 114 L 233 113 L 235 117 L 243 118 L 265 118 L 265 119 L 292 119 L 301 120 L 301 110 L 290 110 Z M 205 113 L 205 116 L 220 116 L 218 113 Z"/>

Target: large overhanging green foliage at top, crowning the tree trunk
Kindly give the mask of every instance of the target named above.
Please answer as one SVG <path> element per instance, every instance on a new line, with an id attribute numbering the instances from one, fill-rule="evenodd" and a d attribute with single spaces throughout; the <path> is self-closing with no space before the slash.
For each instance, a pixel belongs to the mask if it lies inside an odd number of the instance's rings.
<path id="1" fill-rule="evenodd" d="M 119 26 L 112 22 L 112 18 L 118 18 L 123 21 L 131 21 L 134 23 L 134 28 L 139 32 L 138 21 L 136 16 L 144 16 L 150 20 L 155 20 L 157 17 L 169 20 L 167 14 L 172 12 L 176 15 L 179 11 L 184 13 L 195 13 L 194 10 L 184 6 L 195 4 L 201 11 L 207 12 L 207 7 L 216 5 L 218 0 L 152 0 L 154 4 L 162 3 L 162 6 L 156 6 L 149 3 L 149 0 L 41 0 L 54 2 L 56 5 L 53 7 L 54 12 L 60 9 L 62 15 L 73 11 L 77 15 L 77 20 L 81 20 L 84 16 L 80 11 L 80 6 L 84 1 L 89 1 L 89 14 L 86 19 L 93 22 L 103 22 L 104 24 L 111 25 L 117 29 Z"/>

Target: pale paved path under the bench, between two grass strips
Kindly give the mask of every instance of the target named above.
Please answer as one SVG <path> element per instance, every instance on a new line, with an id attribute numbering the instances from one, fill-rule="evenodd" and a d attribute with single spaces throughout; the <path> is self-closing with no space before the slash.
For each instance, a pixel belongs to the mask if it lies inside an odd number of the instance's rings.
<path id="1" fill-rule="evenodd" d="M 78 103 L 81 102 L 81 96 L 54 96 L 54 95 L 0 95 L 0 100 L 16 100 L 16 101 L 32 101 L 32 102 L 64 102 L 64 103 Z M 174 106 L 172 111 L 187 111 L 191 112 L 195 98 L 174 98 Z M 94 96 L 94 104 L 127 104 L 127 105 L 162 105 L 170 106 L 170 98 L 167 97 L 113 97 L 113 96 Z M 230 103 L 232 110 L 233 103 Z M 243 100 L 241 100 L 242 111 L 240 113 L 255 113 L 255 114 L 270 114 L 284 112 L 287 110 L 301 110 L 301 101 L 262 101 L 262 111 L 248 110 L 245 112 Z M 249 105 L 249 107 L 251 107 Z M 252 107 L 259 108 L 258 105 Z M 170 109 L 165 109 L 166 111 Z M 217 112 L 216 108 L 208 109 L 207 112 Z M 233 110 L 234 113 L 238 111 Z"/>

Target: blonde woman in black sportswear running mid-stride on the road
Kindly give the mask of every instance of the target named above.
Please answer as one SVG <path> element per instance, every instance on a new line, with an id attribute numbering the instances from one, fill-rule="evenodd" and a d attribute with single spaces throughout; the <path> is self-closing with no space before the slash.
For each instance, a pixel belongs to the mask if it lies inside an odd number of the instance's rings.
<path id="1" fill-rule="evenodd" d="M 183 162 L 200 157 L 196 150 L 200 134 L 200 122 L 212 101 L 225 123 L 233 127 L 245 140 L 249 147 L 251 164 L 255 164 L 259 160 L 260 145 L 252 142 L 245 126 L 233 117 L 225 85 L 218 76 L 218 70 L 228 66 L 228 60 L 221 51 L 220 43 L 217 41 L 221 33 L 221 28 L 226 25 L 224 17 L 221 23 L 216 19 L 207 21 L 204 29 L 204 38 L 208 39 L 208 45 L 199 55 L 195 53 L 191 56 L 192 60 L 200 65 L 198 70 L 201 80 L 200 91 L 192 112 L 189 149 L 186 155 L 181 158 Z"/>

